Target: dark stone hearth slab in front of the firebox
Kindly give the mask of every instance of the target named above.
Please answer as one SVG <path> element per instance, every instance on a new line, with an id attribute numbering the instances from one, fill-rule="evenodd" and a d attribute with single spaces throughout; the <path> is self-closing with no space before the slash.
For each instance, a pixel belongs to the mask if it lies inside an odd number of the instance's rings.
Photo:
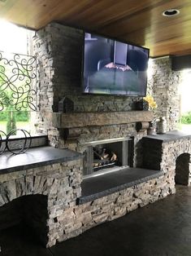
<path id="1" fill-rule="evenodd" d="M 131 188 L 150 179 L 163 176 L 163 174 L 161 170 L 127 168 L 111 174 L 85 179 L 81 183 L 82 196 L 77 199 L 77 204 L 82 205 L 125 188 Z M 102 188 L 102 184 L 105 189 Z"/>

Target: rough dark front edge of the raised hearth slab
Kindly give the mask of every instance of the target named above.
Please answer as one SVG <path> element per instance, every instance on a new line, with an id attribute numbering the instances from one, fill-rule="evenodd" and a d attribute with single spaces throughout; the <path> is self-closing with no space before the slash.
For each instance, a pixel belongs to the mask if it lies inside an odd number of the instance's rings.
<path id="1" fill-rule="evenodd" d="M 125 188 L 131 188 L 135 185 L 138 185 L 140 183 L 144 183 L 146 181 L 149 181 L 150 179 L 156 179 L 160 176 L 163 176 L 163 171 L 157 171 L 156 174 L 152 174 L 152 175 L 149 175 L 149 176 L 146 176 L 145 178 L 141 178 L 141 179 L 137 179 L 137 180 L 133 180 L 132 182 L 129 182 L 129 183 L 124 183 L 124 184 L 121 184 L 121 185 L 118 185 L 114 188 L 109 188 L 109 189 L 106 189 L 102 192 L 97 192 L 97 193 L 94 193 L 92 195 L 89 195 L 89 196 L 80 196 L 79 198 L 77 198 L 77 201 L 76 201 L 76 204 L 77 205 L 82 205 L 82 204 L 85 204 L 89 201 L 93 201 L 95 199 L 98 199 L 98 198 L 101 198 L 103 196 L 108 196 L 112 193 L 115 193 L 115 192 L 119 192 L 120 190 L 123 190 Z"/>

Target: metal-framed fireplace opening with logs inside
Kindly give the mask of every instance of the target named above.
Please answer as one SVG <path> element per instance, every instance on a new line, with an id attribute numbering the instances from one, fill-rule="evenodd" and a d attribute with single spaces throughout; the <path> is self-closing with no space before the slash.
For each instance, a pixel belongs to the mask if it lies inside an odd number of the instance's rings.
<path id="1" fill-rule="evenodd" d="M 133 166 L 132 138 L 104 139 L 85 145 L 84 175 Z"/>

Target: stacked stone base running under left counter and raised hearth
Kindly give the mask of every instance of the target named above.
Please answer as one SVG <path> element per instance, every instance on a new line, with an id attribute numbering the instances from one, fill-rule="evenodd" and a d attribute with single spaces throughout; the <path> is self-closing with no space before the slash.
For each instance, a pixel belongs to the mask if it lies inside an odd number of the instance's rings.
<path id="1" fill-rule="evenodd" d="M 26 219 L 29 226 L 35 229 L 38 238 L 46 246 L 52 246 L 56 241 L 77 236 L 90 227 L 119 218 L 175 192 L 174 179 L 171 173 L 168 173 L 77 205 L 76 199 L 80 196 L 82 177 L 81 166 L 82 160 L 78 160 L 1 174 L 0 205 L 5 205 L 20 196 L 26 196 L 26 201 L 29 199 L 27 196 L 46 196 L 46 202 L 40 201 L 44 209 L 39 208 L 37 198 L 33 199 L 33 209 L 37 207 L 37 210 L 33 214 L 27 214 Z M 32 210 L 30 209 L 28 208 L 29 213 Z"/>

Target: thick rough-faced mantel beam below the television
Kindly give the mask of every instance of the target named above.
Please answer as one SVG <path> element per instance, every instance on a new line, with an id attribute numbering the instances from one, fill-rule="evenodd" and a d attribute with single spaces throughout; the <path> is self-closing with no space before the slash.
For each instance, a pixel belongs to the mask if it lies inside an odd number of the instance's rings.
<path id="1" fill-rule="evenodd" d="M 56 128 L 112 126 L 152 120 L 151 111 L 52 113 L 53 126 Z"/>

